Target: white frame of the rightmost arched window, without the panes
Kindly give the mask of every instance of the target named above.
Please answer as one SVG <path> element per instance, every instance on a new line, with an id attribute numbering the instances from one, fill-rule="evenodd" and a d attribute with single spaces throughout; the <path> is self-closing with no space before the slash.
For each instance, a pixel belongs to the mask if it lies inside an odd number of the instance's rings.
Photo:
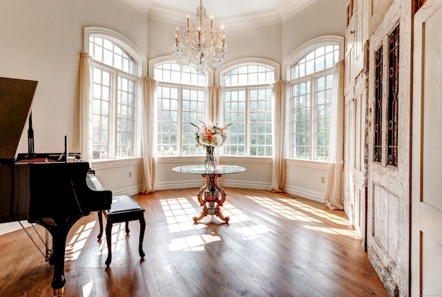
<path id="1" fill-rule="evenodd" d="M 302 77 L 298 77 L 296 79 L 291 79 L 291 68 L 304 56 L 309 54 L 309 52 L 316 50 L 316 48 L 319 48 L 321 46 L 339 46 L 339 54 L 338 54 L 338 61 L 343 59 L 344 55 L 344 37 L 338 36 L 338 35 L 326 35 L 323 37 L 317 37 L 315 39 L 311 39 L 310 41 L 307 41 L 305 44 L 302 44 L 299 48 L 294 50 L 294 52 L 285 59 L 285 61 L 282 63 L 283 67 L 285 68 L 285 71 L 283 71 L 282 75 L 287 80 L 287 100 L 289 100 L 287 104 L 287 115 L 288 120 L 287 124 L 285 126 L 285 131 L 288 131 L 286 133 L 287 135 L 287 143 L 285 144 L 285 158 L 296 160 L 300 162 L 327 162 L 327 160 L 317 160 L 317 145 L 316 145 L 316 138 L 317 138 L 317 110 L 316 110 L 316 80 L 320 77 L 326 77 L 327 75 L 334 73 L 334 67 L 325 68 L 323 70 L 319 70 L 318 72 L 311 73 L 309 75 L 304 75 Z M 336 62 L 338 62 L 336 61 Z M 294 144 L 294 131 L 292 126 L 292 106 L 291 106 L 291 99 L 292 99 L 292 86 L 294 84 L 299 84 L 300 82 L 306 82 L 307 80 L 310 80 L 310 119 L 309 119 L 309 159 L 302 159 L 295 157 L 294 151 L 293 151 L 293 144 Z M 313 124 L 313 125 L 312 125 Z"/>

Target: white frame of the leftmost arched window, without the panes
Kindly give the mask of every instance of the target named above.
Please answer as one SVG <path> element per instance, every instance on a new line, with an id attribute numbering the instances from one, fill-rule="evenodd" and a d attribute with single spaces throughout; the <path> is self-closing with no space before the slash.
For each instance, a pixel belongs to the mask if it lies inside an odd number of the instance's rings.
<path id="1" fill-rule="evenodd" d="M 137 157 L 142 157 L 142 150 L 141 150 L 141 121 L 139 119 L 142 119 L 142 79 L 141 77 L 145 75 L 146 73 L 146 58 L 144 55 L 142 55 L 142 52 L 138 50 L 137 46 L 133 44 L 130 40 L 128 40 L 123 35 L 120 35 L 119 33 L 102 27 L 86 27 L 84 28 L 84 52 L 90 53 L 89 48 L 89 39 L 90 37 L 99 37 L 102 39 L 107 39 L 108 41 L 113 42 L 113 44 L 116 44 L 117 46 L 121 47 L 122 50 L 128 52 L 128 54 L 135 60 L 136 63 L 136 69 L 135 69 L 135 75 L 131 75 L 130 73 L 126 73 L 124 70 L 119 70 L 117 68 L 114 68 L 113 66 L 109 66 L 108 64 L 104 64 L 102 61 L 97 61 L 92 58 L 91 63 L 91 87 L 93 84 L 93 69 L 94 66 L 98 68 L 99 70 L 111 73 L 111 90 L 110 90 L 110 99 L 109 99 L 109 105 L 110 105 L 110 111 L 109 111 L 109 149 L 108 149 L 108 158 L 106 159 L 92 159 L 92 151 L 91 153 L 91 160 L 92 162 L 115 162 L 115 161 L 121 161 L 121 160 L 128 160 L 133 159 Z M 90 54 L 89 54 L 90 55 Z M 91 55 L 92 56 L 92 55 Z M 117 157 L 117 105 L 118 105 L 118 77 L 124 77 L 126 79 L 131 79 L 135 81 L 135 98 L 134 98 L 134 127 L 133 127 L 133 155 L 131 157 Z M 93 111 L 93 88 L 91 88 L 91 113 Z M 84 119 L 84 120 L 90 120 L 92 121 L 92 118 L 90 119 Z M 91 125 L 91 132 L 92 133 L 92 125 Z M 90 135 L 90 139 L 92 139 L 92 134 Z M 90 144 L 92 146 L 92 144 Z"/>

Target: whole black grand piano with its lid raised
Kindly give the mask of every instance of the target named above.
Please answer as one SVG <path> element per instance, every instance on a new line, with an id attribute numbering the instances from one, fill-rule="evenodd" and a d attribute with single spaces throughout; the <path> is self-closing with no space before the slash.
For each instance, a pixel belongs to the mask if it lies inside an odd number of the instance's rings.
<path id="1" fill-rule="evenodd" d="M 54 296 L 62 296 L 68 232 L 91 211 L 110 209 L 112 192 L 90 183 L 93 173 L 88 162 L 68 162 L 66 145 L 64 157 L 58 158 L 54 156 L 63 153 L 35 154 L 29 140 L 31 151 L 17 153 L 37 84 L 0 77 L 0 223 L 28 220 L 48 230 L 49 262 L 54 266 L 51 286 Z"/>

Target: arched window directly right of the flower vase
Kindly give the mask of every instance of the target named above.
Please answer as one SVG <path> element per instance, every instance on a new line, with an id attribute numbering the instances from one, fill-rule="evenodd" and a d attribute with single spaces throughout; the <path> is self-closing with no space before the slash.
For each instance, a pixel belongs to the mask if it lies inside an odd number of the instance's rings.
<path id="1" fill-rule="evenodd" d="M 229 126 L 224 155 L 271 157 L 272 84 L 278 66 L 258 59 L 233 61 L 221 75 L 222 119 Z"/>

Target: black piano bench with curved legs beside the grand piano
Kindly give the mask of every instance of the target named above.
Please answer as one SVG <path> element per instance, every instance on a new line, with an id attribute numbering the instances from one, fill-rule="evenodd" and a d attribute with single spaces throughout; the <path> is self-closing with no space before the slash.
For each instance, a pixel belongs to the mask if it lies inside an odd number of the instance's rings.
<path id="1" fill-rule="evenodd" d="M 131 220 L 140 221 L 140 243 L 138 251 L 140 257 L 144 258 L 146 255 L 143 251 L 144 231 L 146 230 L 146 220 L 144 220 L 144 209 L 140 207 L 131 196 L 119 195 L 112 198 L 111 209 L 106 211 L 98 211 L 99 234 L 98 239 L 103 235 L 103 219 L 102 215 L 106 217 L 106 242 L 108 245 L 108 258 L 106 259 L 106 267 L 111 265 L 112 261 L 112 226 L 114 223 L 126 222 L 126 234 L 130 232 L 128 222 Z"/>

